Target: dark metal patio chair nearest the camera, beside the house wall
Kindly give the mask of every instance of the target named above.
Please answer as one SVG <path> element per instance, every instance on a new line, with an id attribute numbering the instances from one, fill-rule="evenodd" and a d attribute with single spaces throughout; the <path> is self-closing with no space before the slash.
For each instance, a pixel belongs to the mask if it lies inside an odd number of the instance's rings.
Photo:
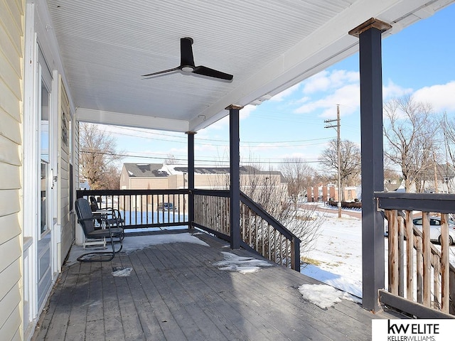
<path id="1" fill-rule="evenodd" d="M 124 229 L 119 226 L 117 219 L 107 219 L 107 215 L 99 215 L 95 217 L 90 208 L 90 204 L 87 199 L 80 198 L 75 202 L 75 210 L 77 214 L 77 220 L 82 227 L 82 231 L 85 234 L 86 239 L 110 239 L 112 246 L 111 251 L 93 251 L 86 254 L 82 254 L 77 257 L 77 261 L 112 261 L 115 254 L 119 253 L 123 247 Z M 101 220 L 101 229 L 95 229 L 95 221 Z M 120 247 L 118 250 L 115 249 L 114 238 L 119 238 Z M 108 256 L 107 256 L 108 255 Z M 100 256 L 97 259 L 92 259 L 93 256 Z M 107 256 L 107 257 L 103 257 Z"/>

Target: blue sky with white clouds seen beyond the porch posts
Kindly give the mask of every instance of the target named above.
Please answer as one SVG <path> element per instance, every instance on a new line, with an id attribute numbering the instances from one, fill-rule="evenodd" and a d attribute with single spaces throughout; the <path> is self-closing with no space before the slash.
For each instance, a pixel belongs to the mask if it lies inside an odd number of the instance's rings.
<path id="1" fill-rule="evenodd" d="M 455 117 L 455 5 L 382 40 L 384 101 L 411 95 L 432 104 L 435 114 Z M 294 85 L 261 105 L 240 111 L 240 162 L 279 169 L 285 158 L 319 168 L 321 151 L 336 139 L 340 106 L 341 139 L 360 146 L 358 53 Z M 122 162 L 162 163 L 168 156 L 186 163 L 187 136 L 168 131 L 105 127 L 114 131 Z M 221 119 L 195 136 L 196 165 L 227 166 L 229 122 Z"/>

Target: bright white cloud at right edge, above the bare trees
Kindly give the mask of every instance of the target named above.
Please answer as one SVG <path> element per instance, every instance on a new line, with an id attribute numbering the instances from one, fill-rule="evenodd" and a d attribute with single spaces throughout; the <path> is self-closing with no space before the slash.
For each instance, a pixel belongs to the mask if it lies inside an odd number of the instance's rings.
<path id="1" fill-rule="evenodd" d="M 414 92 L 418 102 L 431 103 L 436 112 L 455 112 L 455 81 L 442 85 L 422 87 Z"/>

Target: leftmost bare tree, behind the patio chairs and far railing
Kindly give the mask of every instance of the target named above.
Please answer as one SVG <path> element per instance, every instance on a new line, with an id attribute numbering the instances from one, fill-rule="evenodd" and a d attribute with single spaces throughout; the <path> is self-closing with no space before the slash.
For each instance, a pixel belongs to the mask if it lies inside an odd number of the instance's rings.
<path id="1" fill-rule="evenodd" d="M 117 161 L 122 152 L 116 151 L 115 139 L 96 124 L 80 124 L 80 171 L 90 188 L 118 189 L 120 174 Z"/>

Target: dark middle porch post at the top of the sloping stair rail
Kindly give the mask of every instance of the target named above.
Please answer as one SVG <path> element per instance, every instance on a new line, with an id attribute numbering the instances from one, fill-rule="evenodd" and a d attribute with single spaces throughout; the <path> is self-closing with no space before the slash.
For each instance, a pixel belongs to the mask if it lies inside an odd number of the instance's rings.
<path id="1" fill-rule="evenodd" d="M 240 249 L 240 109 L 230 105 L 229 154 L 230 154 L 230 247 Z"/>

